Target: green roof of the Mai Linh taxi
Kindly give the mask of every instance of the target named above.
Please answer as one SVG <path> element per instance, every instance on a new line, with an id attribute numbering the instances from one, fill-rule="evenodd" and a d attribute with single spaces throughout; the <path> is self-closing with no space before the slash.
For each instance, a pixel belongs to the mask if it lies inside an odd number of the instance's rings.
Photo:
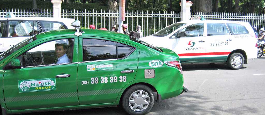
<path id="1" fill-rule="evenodd" d="M 108 37 L 109 36 L 118 36 L 111 39 L 116 39 L 120 41 L 129 40 L 129 36 L 122 33 L 112 32 L 112 31 L 106 31 L 106 30 L 98 30 L 98 29 L 82 29 L 84 33 L 82 33 L 81 36 L 94 36 L 94 37 Z M 63 37 L 63 36 L 77 36 L 74 35 L 76 30 L 74 29 L 60 29 L 60 30 L 52 30 L 48 32 L 43 32 L 36 35 L 36 38 L 38 40 L 45 40 L 48 38 L 55 38 L 55 37 Z"/>

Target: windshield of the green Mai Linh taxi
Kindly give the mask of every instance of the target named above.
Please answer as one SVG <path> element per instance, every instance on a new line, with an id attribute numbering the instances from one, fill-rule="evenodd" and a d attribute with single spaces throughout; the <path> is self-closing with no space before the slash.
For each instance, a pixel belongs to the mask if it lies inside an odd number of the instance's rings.
<path id="1" fill-rule="evenodd" d="M 32 36 L 32 37 L 25 39 L 24 41 L 21 41 L 20 43 L 16 44 L 15 46 L 8 49 L 7 51 L 3 52 L 0 55 L 0 61 L 5 59 L 5 57 L 9 56 L 10 54 L 14 53 L 15 51 L 17 51 L 18 49 L 22 48 L 23 46 L 28 45 L 29 43 L 31 43 L 34 40 L 35 40 L 35 36 Z"/>

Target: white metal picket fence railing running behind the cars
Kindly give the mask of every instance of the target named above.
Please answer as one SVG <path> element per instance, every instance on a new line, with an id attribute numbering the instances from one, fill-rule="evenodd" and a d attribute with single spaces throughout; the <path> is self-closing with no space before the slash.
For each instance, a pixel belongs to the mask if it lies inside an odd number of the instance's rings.
<path id="1" fill-rule="evenodd" d="M 0 17 L 5 17 L 8 12 L 14 13 L 17 17 L 53 17 L 51 9 L 0 9 Z M 264 28 L 265 25 L 264 14 L 191 12 L 191 17 L 193 16 L 203 16 L 205 19 L 214 20 L 244 21 L 258 29 Z M 80 20 L 81 28 L 88 28 L 90 24 L 94 24 L 97 29 L 111 30 L 113 25 L 118 24 L 118 11 L 110 10 L 62 9 L 61 17 Z M 135 31 L 136 26 L 140 25 L 143 36 L 152 35 L 179 21 L 180 12 L 176 11 L 129 10 L 125 13 L 128 30 Z"/>

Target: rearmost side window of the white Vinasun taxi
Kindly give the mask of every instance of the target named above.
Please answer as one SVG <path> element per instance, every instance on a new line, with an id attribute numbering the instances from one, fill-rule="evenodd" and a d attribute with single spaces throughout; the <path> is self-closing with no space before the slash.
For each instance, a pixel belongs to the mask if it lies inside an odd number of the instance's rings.
<path id="1" fill-rule="evenodd" d="M 232 35 L 235 34 L 248 34 L 248 30 L 241 24 L 227 23 L 228 29 Z"/>

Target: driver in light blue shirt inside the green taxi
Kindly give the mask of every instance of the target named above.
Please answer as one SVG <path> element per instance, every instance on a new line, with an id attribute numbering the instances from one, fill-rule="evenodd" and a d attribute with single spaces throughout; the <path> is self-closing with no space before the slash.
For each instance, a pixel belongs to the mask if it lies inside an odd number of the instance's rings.
<path id="1" fill-rule="evenodd" d="M 70 59 L 67 56 L 68 44 L 64 40 L 58 40 L 55 42 L 55 54 L 57 56 L 55 64 L 70 63 Z"/>

